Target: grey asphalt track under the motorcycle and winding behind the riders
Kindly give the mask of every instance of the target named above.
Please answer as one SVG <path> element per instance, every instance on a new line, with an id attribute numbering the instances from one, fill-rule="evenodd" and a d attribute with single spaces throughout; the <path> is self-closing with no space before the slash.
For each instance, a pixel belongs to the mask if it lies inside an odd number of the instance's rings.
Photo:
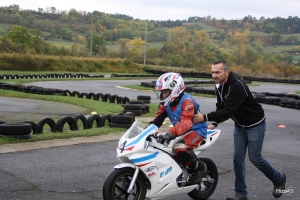
<path id="1" fill-rule="evenodd" d="M 134 81 L 54 81 L 31 83 L 42 87 L 77 90 L 79 92 L 102 92 L 127 96 L 149 95 L 157 102 L 154 92 L 125 90 L 114 86 L 139 84 Z M 29 85 L 29 84 L 28 84 Z M 264 84 L 251 87 L 257 92 L 292 92 L 300 90 L 299 85 Z M 215 109 L 214 98 L 195 97 L 201 104 L 201 111 Z M 263 157 L 276 169 L 287 175 L 286 189 L 289 193 L 280 199 L 300 199 L 300 125 L 299 110 L 262 104 L 267 116 L 267 132 Z M 285 125 L 285 129 L 278 128 Z M 210 149 L 202 153 L 213 159 L 220 176 L 211 200 L 225 199 L 234 194 L 234 172 L 232 164 L 233 122 L 228 120 L 219 125 L 222 133 Z M 51 142 L 51 141 L 49 141 Z M 117 141 L 52 147 L 49 149 L 0 154 L 0 199 L 20 200 L 93 200 L 102 199 L 102 185 L 116 158 Z M 0 146 L 1 148 L 1 146 Z M 274 199 L 272 183 L 246 158 L 246 181 L 248 198 L 257 200 Z M 180 195 L 166 200 L 188 200 Z"/>

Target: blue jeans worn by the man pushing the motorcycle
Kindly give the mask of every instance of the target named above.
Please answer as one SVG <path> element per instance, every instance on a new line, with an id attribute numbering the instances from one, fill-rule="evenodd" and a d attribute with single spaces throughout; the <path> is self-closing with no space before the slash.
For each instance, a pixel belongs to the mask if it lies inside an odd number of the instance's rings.
<path id="1" fill-rule="evenodd" d="M 248 156 L 252 164 L 257 167 L 273 184 L 281 181 L 281 173 L 274 169 L 261 156 L 266 122 L 253 128 L 243 128 L 235 125 L 233 163 L 235 171 L 235 191 L 239 196 L 247 196 L 245 183 L 245 154 L 248 146 Z"/>

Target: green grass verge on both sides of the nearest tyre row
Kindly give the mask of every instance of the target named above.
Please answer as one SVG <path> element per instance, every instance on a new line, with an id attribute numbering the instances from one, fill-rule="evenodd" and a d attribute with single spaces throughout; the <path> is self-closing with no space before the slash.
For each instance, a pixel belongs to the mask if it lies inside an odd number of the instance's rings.
<path id="1" fill-rule="evenodd" d="M 76 98 L 69 96 L 56 96 L 56 95 L 37 95 L 37 94 L 29 94 L 23 92 L 16 92 L 11 90 L 2 90 L 0 89 L 0 96 L 3 97 L 14 97 L 14 98 L 29 98 L 36 100 L 45 100 L 45 101 L 54 101 L 61 103 L 69 103 L 77 106 L 81 106 L 93 111 L 96 111 L 99 115 L 102 114 L 116 114 L 122 113 L 123 107 L 120 104 L 109 103 L 109 102 L 101 102 L 94 101 L 91 99 L 85 98 Z M 149 104 L 150 112 L 143 115 L 143 117 L 153 117 L 157 112 L 157 104 Z M 88 113 L 87 113 L 88 114 Z M 54 119 L 55 120 L 55 119 Z M 65 125 L 65 127 L 68 125 Z M 79 126 L 79 125 L 78 125 Z M 53 139 L 65 139 L 65 138 L 73 138 L 73 137 L 88 137 L 88 136 L 97 136 L 104 135 L 110 133 L 118 133 L 126 131 L 125 128 L 110 128 L 108 123 L 101 128 L 93 128 L 93 129 L 85 129 L 85 130 L 77 130 L 77 131 L 68 131 L 65 129 L 64 132 L 56 132 L 51 133 L 47 129 L 47 125 L 44 127 L 44 133 L 42 134 L 34 134 L 30 139 L 19 140 L 15 138 L 8 137 L 0 137 L 0 145 L 1 144 L 13 144 L 13 143 L 24 143 L 24 142 L 35 142 L 42 140 L 53 140 Z"/>

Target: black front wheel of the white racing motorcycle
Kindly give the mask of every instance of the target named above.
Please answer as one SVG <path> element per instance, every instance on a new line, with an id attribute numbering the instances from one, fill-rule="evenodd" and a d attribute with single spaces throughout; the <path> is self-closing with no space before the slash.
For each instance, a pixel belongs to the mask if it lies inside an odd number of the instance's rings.
<path id="1" fill-rule="evenodd" d="M 145 178 L 139 173 L 131 193 L 127 193 L 134 174 L 133 168 L 112 171 L 103 184 L 104 200 L 144 200 L 147 187 Z"/>

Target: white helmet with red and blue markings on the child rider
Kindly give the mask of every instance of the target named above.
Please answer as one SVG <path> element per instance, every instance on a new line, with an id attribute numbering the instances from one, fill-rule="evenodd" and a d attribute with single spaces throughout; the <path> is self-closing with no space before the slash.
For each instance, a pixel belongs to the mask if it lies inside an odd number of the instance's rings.
<path id="1" fill-rule="evenodd" d="M 168 106 L 184 91 L 185 87 L 179 73 L 168 72 L 157 79 L 155 89 L 159 93 L 160 103 Z M 163 98 L 162 90 L 170 90 L 169 96 Z"/>

